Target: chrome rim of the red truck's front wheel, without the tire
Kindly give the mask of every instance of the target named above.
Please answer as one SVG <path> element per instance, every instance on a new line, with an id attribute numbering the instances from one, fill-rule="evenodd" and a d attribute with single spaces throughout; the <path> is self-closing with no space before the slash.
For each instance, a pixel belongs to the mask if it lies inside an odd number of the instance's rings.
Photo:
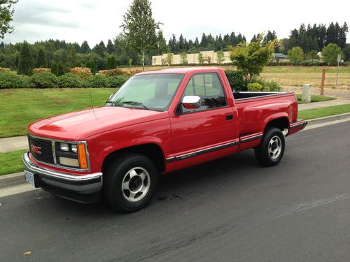
<path id="1" fill-rule="evenodd" d="M 145 168 L 132 168 L 123 177 L 122 191 L 127 201 L 136 202 L 144 198 L 151 185 L 150 175 Z"/>

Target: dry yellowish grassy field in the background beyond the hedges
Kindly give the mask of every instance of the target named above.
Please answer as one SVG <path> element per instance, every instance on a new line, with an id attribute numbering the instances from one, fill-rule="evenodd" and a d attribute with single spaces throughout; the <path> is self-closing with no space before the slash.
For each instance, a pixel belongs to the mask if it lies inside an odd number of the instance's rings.
<path id="1" fill-rule="evenodd" d="M 179 66 L 181 67 L 181 66 Z M 146 71 L 157 70 L 161 68 L 175 68 L 169 66 L 146 67 Z M 235 66 L 221 66 L 223 69 L 236 69 Z M 312 87 L 321 87 L 322 66 L 266 66 L 261 73 L 265 80 L 274 80 L 283 87 L 302 87 L 304 84 L 310 84 Z M 141 67 L 133 67 L 141 70 Z M 125 68 L 129 70 L 129 68 Z M 337 78 L 336 66 L 325 66 L 325 87 L 335 88 Z M 350 66 L 339 67 L 337 89 L 350 89 Z"/>

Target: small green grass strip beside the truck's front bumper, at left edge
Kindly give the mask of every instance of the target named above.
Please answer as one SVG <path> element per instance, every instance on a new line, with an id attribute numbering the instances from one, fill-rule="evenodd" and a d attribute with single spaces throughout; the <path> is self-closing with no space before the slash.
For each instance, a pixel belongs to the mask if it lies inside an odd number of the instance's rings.
<path id="1" fill-rule="evenodd" d="M 18 150 L 0 153 L 0 175 L 13 174 L 23 171 L 22 155 L 28 150 Z"/>

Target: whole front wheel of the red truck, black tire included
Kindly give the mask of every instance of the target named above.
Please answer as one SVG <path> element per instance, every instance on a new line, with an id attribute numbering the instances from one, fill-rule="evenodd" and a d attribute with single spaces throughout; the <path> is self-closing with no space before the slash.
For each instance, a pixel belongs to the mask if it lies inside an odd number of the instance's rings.
<path id="1" fill-rule="evenodd" d="M 142 180 L 142 177 L 146 178 Z M 103 194 L 111 208 L 122 212 L 135 212 L 151 201 L 157 184 L 158 170 L 151 159 L 142 154 L 126 154 L 111 163 L 104 174 Z M 141 188 L 144 188 L 143 192 Z M 135 194 L 137 189 L 140 191 Z M 138 198 L 140 199 L 137 200 Z"/>

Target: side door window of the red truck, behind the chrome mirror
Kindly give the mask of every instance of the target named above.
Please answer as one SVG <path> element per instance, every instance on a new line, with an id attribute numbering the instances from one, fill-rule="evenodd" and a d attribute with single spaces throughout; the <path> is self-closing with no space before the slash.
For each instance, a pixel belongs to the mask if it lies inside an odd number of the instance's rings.
<path id="1" fill-rule="evenodd" d="M 182 112 L 194 112 L 211 108 L 221 108 L 227 105 L 223 86 L 217 73 L 200 73 L 193 75 L 188 81 L 183 96 L 200 96 L 201 107 L 186 109 L 181 105 Z"/>

